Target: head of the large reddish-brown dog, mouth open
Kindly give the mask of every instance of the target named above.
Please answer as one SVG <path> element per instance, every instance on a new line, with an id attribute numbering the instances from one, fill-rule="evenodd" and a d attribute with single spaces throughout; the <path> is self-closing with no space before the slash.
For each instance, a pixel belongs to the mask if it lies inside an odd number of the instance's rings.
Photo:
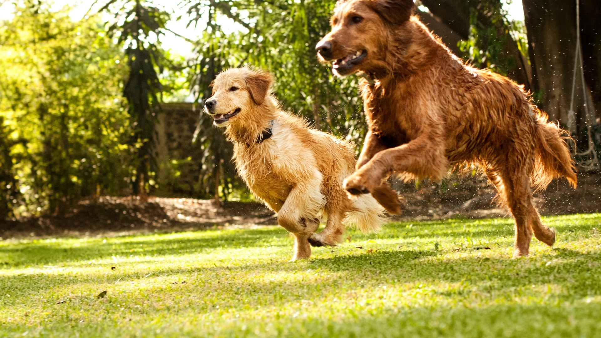
<path id="1" fill-rule="evenodd" d="M 338 0 L 332 31 L 316 46 L 319 60 L 333 60 L 338 76 L 385 67 L 392 35 L 412 13 L 413 0 Z"/>

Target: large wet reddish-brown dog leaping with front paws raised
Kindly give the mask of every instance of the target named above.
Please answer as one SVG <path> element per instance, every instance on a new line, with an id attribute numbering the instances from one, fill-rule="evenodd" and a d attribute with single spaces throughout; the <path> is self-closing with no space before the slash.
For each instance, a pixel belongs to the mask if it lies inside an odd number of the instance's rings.
<path id="1" fill-rule="evenodd" d="M 515 218 L 513 256 L 528 255 L 532 232 L 553 245 L 531 185 L 563 176 L 576 186 L 566 132 L 519 85 L 463 64 L 412 12 L 412 0 L 339 0 L 332 31 L 317 44 L 334 73 L 364 76 L 369 130 L 345 189 L 365 194 L 392 173 L 438 180 L 452 166 L 477 164 Z"/>

